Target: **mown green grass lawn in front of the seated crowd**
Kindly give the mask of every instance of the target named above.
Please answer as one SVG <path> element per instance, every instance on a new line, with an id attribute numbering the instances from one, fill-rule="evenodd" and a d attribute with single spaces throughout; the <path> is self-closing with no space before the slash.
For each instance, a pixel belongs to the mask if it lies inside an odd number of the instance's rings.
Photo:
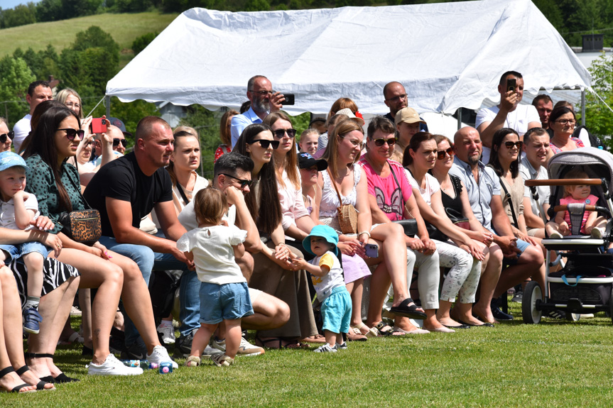
<path id="1" fill-rule="evenodd" d="M 335 354 L 267 351 L 231 368 L 90 377 L 78 348 L 58 366 L 80 382 L 0 395 L 0 407 L 610 407 L 611 319 L 516 320 L 494 329 L 349 343 Z M 73 321 L 76 323 L 76 321 Z"/>

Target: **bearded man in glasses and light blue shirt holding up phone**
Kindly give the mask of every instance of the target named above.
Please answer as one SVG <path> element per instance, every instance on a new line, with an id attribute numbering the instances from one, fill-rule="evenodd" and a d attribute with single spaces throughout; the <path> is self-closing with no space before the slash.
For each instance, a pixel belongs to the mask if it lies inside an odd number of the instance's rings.
<path id="1" fill-rule="evenodd" d="M 281 109 L 281 102 L 286 99 L 281 92 L 273 92 L 273 85 L 263 75 L 251 77 L 247 82 L 247 98 L 251 107 L 244 114 L 232 117 L 230 133 L 232 133 L 232 148 L 239 140 L 244 128 L 251 123 L 262 123 L 271 112 Z"/>

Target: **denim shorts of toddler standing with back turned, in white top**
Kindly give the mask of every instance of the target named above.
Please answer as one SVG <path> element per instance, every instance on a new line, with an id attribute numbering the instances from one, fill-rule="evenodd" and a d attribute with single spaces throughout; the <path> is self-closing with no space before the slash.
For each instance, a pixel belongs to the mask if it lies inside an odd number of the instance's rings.
<path id="1" fill-rule="evenodd" d="M 200 323 L 217 324 L 254 314 L 246 282 L 200 282 Z"/>

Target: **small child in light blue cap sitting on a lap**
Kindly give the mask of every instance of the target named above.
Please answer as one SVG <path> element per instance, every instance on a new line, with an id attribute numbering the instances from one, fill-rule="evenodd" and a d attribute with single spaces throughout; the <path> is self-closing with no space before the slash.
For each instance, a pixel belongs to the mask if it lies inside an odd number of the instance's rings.
<path id="1" fill-rule="evenodd" d="M 0 227 L 30 230 L 31 223 L 40 213 L 34 194 L 23 191 L 26 187 L 26 161 L 12 152 L 0 153 Z M 61 241 L 58 236 L 48 234 L 45 243 L 53 246 L 59 254 Z M 38 302 L 43 292 L 43 263 L 49 248 L 40 242 L 26 242 L 17 245 L 0 245 L 0 261 L 9 262 L 20 258 L 28 270 L 28 297 L 23 309 L 23 330 L 38 333 L 43 318 L 38 313 Z"/>

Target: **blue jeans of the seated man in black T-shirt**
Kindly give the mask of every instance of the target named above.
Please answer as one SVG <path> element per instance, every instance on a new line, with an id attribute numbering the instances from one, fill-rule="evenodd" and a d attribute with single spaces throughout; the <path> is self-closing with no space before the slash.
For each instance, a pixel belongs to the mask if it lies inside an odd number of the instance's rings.
<path id="1" fill-rule="evenodd" d="M 147 286 L 153 270 L 183 270 L 179 287 L 180 315 L 182 324 L 179 328 L 185 336 L 200 327 L 200 281 L 195 270 L 188 270 L 188 265 L 175 258 L 170 253 L 153 252 L 151 248 L 133 243 L 117 243 L 115 238 L 101 236 L 98 240 L 102 245 L 116 253 L 134 260 L 143 274 Z M 129 316 L 125 316 L 126 347 L 139 339 L 139 331 Z"/>

